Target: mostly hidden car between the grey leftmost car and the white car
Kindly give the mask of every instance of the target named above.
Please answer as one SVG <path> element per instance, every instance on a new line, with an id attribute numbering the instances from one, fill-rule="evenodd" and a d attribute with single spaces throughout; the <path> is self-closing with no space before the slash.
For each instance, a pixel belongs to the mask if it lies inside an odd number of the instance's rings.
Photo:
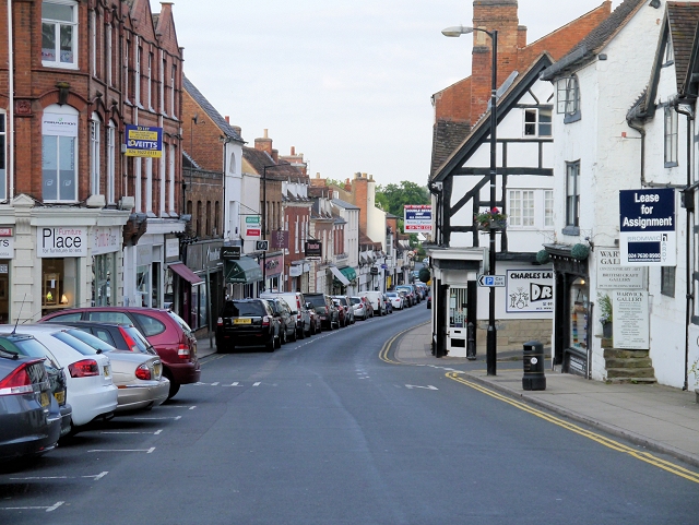
<path id="1" fill-rule="evenodd" d="M 31 335 L 17 335 L 16 333 L 0 334 L 0 348 L 23 357 L 44 359 L 44 367 L 48 374 L 51 393 L 56 398 L 61 416 L 61 437 L 67 435 L 70 432 L 70 421 L 73 409 L 70 404 L 66 402 L 66 372 L 63 372 L 63 369 L 58 363 L 56 356 Z"/>

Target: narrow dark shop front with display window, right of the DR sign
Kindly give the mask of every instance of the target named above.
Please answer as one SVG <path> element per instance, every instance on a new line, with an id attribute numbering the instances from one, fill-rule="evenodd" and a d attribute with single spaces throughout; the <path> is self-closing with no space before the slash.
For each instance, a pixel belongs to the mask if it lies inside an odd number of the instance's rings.
<path id="1" fill-rule="evenodd" d="M 554 366 L 564 373 L 591 377 L 590 271 L 581 256 L 565 244 L 544 247 L 554 263 Z M 577 255 L 577 256 L 574 256 Z"/>

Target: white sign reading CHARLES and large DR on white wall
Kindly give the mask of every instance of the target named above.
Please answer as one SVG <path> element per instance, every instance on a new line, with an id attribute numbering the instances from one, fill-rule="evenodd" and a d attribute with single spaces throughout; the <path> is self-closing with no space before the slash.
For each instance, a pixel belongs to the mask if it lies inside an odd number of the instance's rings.
<path id="1" fill-rule="evenodd" d="M 553 270 L 508 270 L 506 283 L 508 313 L 554 311 Z"/>

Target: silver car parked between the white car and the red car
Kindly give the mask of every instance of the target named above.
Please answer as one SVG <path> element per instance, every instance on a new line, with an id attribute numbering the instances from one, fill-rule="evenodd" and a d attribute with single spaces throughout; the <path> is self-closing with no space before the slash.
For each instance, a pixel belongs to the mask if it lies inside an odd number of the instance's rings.
<path id="1" fill-rule="evenodd" d="M 117 385 L 115 411 L 149 409 L 167 401 L 170 382 L 163 377 L 163 361 L 157 354 L 118 350 L 78 327 L 68 333 L 109 357 L 111 380 Z"/>

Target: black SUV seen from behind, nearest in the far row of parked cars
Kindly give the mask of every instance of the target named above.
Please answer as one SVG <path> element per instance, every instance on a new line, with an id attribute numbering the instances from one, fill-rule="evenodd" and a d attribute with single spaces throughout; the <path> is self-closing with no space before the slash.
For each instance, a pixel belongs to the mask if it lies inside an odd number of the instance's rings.
<path id="1" fill-rule="evenodd" d="M 225 302 L 216 323 L 216 348 L 226 353 L 239 346 L 264 346 L 268 351 L 281 346 L 280 323 L 264 299 Z"/>

